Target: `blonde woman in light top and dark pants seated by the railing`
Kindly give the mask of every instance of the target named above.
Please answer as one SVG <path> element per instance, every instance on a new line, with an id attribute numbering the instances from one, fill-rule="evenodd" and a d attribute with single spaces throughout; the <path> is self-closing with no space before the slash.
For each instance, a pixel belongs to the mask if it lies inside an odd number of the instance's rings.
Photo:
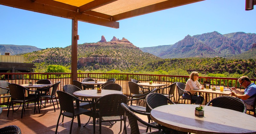
<path id="1" fill-rule="evenodd" d="M 195 94 L 196 92 L 191 91 L 192 89 L 204 89 L 204 87 L 202 87 L 200 85 L 200 83 L 198 82 L 198 78 L 199 78 L 198 72 L 192 72 L 189 75 L 189 77 L 190 78 L 188 79 L 188 81 L 186 83 L 185 90 L 191 93 L 191 95 L 192 95 L 191 99 L 195 101 L 195 104 L 203 104 L 204 97 L 196 95 Z M 184 99 L 190 100 L 190 95 L 186 92 L 183 93 L 182 97 Z"/>

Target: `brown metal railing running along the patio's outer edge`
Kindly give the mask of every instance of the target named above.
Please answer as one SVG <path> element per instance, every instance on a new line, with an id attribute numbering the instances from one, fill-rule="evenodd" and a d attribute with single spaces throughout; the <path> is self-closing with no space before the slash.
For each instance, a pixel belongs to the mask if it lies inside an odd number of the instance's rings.
<path id="1" fill-rule="evenodd" d="M 71 73 L 0 73 L 1 80 L 8 81 L 15 84 L 27 84 L 28 81 L 36 83 L 40 79 L 49 79 L 52 84 L 61 81 L 58 90 L 63 91 L 63 86 L 71 84 Z M 189 76 L 177 76 L 177 75 L 155 75 L 155 74 L 133 74 L 133 73 L 77 73 L 77 80 L 82 81 L 84 78 L 94 78 L 99 81 L 107 81 L 109 78 L 115 78 L 116 83 L 123 87 L 123 93 L 129 95 L 128 81 L 131 79 L 137 79 L 140 82 L 148 82 L 152 80 L 154 83 L 172 84 L 173 82 L 186 83 Z M 235 86 L 240 90 L 244 88 L 237 82 L 238 78 L 222 78 L 222 77 L 200 77 L 198 81 L 203 84 L 204 81 L 211 81 L 212 86 Z M 251 79 L 255 83 L 256 79 Z M 167 93 L 168 91 L 164 91 Z M 177 100 L 178 93 L 175 92 L 175 98 Z M 217 95 L 212 94 L 212 98 Z M 5 102 L 6 100 L 1 100 Z"/>

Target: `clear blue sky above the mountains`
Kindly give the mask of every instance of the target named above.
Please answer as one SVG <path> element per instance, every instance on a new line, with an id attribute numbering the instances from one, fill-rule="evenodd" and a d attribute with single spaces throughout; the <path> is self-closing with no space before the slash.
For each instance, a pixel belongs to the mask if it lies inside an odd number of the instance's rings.
<path id="1" fill-rule="evenodd" d="M 78 22 L 78 44 L 98 42 L 104 35 L 123 37 L 137 47 L 171 45 L 188 34 L 256 33 L 256 5 L 245 11 L 245 0 L 205 0 L 119 21 L 119 29 Z M 0 44 L 38 48 L 71 45 L 71 20 L 0 5 Z"/>

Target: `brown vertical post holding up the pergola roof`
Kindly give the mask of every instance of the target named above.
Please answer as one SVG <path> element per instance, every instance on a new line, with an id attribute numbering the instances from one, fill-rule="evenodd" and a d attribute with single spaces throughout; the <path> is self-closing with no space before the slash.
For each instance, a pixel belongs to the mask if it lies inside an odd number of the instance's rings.
<path id="1" fill-rule="evenodd" d="M 71 84 L 77 79 L 77 17 L 72 19 L 72 44 L 71 44 Z"/>

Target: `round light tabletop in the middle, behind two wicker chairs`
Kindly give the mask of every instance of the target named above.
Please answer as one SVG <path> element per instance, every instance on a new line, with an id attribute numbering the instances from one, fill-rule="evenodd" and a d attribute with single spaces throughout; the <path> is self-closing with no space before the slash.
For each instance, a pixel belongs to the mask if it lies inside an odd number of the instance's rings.
<path id="1" fill-rule="evenodd" d="M 97 90 L 81 90 L 74 92 L 74 96 L 81 97 L 81 98 L 93 98 L 98 99 L 102 96 L 108 95 L 108 94 L 123 94 L 121 91 L 116 90 L 101 90 L 101 93 L 97 93 Z"/>

